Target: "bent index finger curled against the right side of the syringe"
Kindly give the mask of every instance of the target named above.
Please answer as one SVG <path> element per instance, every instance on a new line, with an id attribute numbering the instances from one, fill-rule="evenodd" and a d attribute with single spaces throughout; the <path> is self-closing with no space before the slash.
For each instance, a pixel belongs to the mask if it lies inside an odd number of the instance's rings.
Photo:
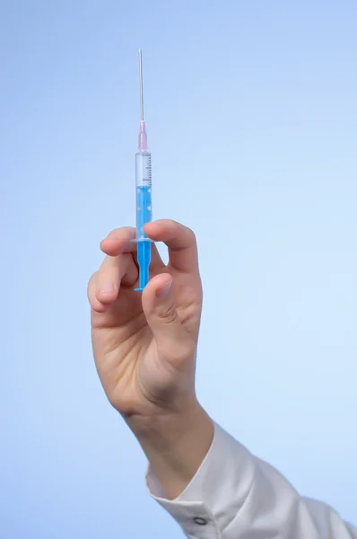
<path id="1" fill-rule="evenodd" d="M 190 228 L 171 219 L 160 219 L 144 225 L 144 232 L 154 242 L 168 246 L 173 268 L 187 273 L 198 272 L 196 236 Z"/>

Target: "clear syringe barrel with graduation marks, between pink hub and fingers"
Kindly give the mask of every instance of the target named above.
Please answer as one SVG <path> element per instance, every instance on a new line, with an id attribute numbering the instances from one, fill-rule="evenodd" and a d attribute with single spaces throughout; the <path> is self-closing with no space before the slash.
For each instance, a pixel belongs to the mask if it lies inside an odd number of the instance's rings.
<path id="1" fill-rule="evenodd" d="M 146 238 L 143 227 L 152 220 L 152 155 L 139 151 L 135 154 L 136 183 L 136 239 Z"/>

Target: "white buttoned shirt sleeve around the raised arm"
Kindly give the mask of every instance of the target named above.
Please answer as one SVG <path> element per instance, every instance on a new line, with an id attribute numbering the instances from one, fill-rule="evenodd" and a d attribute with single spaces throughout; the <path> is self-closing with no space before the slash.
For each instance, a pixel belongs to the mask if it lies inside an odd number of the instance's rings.
<path id="1" fill-rule="evenodd" d="M 150 467 L 146 484 L 190 539 L 357 539 L 357 529 L 333 508 L 302 498 L 217 424 L 205 460 L 179 498 L 163 497 Z"/>

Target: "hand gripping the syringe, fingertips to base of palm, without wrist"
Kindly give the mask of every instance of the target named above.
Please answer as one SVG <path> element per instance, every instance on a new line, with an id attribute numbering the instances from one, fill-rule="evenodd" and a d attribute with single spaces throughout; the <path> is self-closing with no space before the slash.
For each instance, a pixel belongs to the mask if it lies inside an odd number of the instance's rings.
<path id="1" fill-rule="evenodd" d="M 100 243 L 107 254 L 88 285 L 96 367 L 109 402 L 126 418 L 158 417 L 196 404 L 196 345 L 202 310 L 196 238 L 175 221 L 144 227 L 166 243 L 167 266 L 152 243 L 150 281 L 138 281 L 134 228 Z"/>

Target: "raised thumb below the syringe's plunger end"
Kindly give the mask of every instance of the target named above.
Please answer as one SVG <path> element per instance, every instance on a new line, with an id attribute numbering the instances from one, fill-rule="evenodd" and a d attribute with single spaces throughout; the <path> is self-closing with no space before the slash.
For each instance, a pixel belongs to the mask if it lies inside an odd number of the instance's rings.
<path id="1" fill-rule="evenodd" d="M 172 278 L 162 273 L 152 278 L 143 291 L 143 310 L 158 347 L 168 353 L 172 346 L 187 339 L 179 320 L 171 290 Z"/>

